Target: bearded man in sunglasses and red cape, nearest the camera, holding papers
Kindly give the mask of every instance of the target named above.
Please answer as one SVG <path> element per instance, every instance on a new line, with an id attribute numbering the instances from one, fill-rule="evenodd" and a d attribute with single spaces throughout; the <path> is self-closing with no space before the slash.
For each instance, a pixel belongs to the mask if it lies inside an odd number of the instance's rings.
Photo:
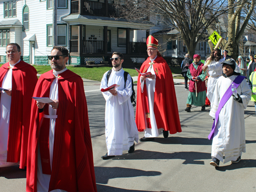
<path id="1" fill-rule="evenodd" d="M 27 191 L 97 191 L 86 96 L 80 76 L 67 70 L 68 50 L 55 46 L 53 70 L 42 74 L 33 100 Z"/>

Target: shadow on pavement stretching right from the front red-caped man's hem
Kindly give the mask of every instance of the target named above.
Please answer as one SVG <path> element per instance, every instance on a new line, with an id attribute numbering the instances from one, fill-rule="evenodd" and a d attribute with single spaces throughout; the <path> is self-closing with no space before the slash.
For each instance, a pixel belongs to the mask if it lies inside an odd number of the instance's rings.
<path id="1" fill-rule="evenodd" d="M 109 179 L 124 177 L 159 176 L 161 172 L 145 171 L 123 167 L 99 167 L 95 166 L 96 183 L 107 184 Z"/>

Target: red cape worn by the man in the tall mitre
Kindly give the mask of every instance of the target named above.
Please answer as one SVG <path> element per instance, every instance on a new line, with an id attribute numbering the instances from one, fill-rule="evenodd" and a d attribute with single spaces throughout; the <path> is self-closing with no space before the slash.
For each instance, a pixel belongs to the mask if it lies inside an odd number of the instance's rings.
<path id="1" fill-rule="evenodd" d="M 145 60 L 140 68 L 142 73 L 145 73 L 150 67 L 150 57 Z M 174 88 L 174 80 L 172 72 L 163 57 L 157 57 L 154 60 L 153 68 L 156 74 L 156 87 L 154 95 L 154 113 L 157 122 L 157 127 L 164 128 L 164 131 L 169 131 L 170 134 L 181 132 L 180 117 L 177 105 L 177 99 Z M 143 94 L 141 93 L 140 74 L 138 76 L 138 94 L 137 94 L 137 109 L 136 109 L 136 124 L 138 131 L 145 130 L 145 109 Z M 144 115 L 143 115 L 144 114 Z"/>

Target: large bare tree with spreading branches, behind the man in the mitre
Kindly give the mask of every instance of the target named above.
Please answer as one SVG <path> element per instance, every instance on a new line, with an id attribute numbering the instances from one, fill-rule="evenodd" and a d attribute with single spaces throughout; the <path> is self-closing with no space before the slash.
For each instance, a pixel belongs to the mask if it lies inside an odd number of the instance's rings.
<path id="1" fill-rule="evenodd" d="M 120 3 L 120 2 L 119 2 Z M 191 57 L 207 28 L 227 12 L 225 0 L 127 0 L 121 6 L 125 18 L 136 22 L 160 13 L 180 32 Z M 174 25 L 172 25 L 174 23 Z"/>

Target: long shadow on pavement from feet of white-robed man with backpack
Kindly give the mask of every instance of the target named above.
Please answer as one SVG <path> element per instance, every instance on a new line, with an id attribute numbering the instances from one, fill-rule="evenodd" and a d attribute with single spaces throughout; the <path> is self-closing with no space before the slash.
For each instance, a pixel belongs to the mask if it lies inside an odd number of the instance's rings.
<path id="1" fill-rule="evenodd" d="M 184 159 L 182 164 L 204 164 L 201 159 L 210 159 L 210 153 L 202 152 L 174 152 L 174 153 L 162 153 L 136 150 L 132 154 L 124 154 L 122 156 L 116 156 L 113 160 L 142 160 L 142 159 Z"/>

